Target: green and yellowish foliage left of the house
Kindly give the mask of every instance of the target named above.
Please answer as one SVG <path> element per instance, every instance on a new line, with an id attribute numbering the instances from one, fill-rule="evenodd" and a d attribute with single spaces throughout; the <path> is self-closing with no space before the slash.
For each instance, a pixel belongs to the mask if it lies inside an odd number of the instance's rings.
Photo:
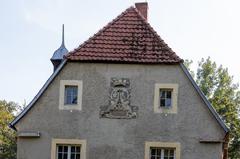
<path id="1" fill-rule="evenodd" d="M 0 158 L 16 159 L 16 133 L 8 127 L 18 109 L 14 102 L 0 100 Z"/>

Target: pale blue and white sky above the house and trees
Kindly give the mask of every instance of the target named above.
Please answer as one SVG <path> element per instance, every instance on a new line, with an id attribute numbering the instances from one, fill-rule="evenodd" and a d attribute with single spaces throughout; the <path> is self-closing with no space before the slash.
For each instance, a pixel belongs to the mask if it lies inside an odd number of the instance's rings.
<path id="1" fill-rule="evenodd" d="M 136 0 L 0 0 L 0 99 L 29 103 L 53 72 L 61 44 L 73 50 Z M 211 57 L 240 81 L 239 0 L 147 0 L 148 22 L 182 59 Z"/>

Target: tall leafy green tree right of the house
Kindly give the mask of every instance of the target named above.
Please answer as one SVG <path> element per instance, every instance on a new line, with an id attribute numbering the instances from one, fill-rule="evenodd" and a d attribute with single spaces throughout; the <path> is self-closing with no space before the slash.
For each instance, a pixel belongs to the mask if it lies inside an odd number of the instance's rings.
<path id="1" fill-rule="evenodd" d="M 190 65 L 186 67 L 190 70 Z M 193 72 L 193 71 L 192 71 Z M 240 91 L 228 69 L 217 66 L 210 57 L 198 63 L 196 82 L 230 128 L 229 157 L 240 158 Z"/>

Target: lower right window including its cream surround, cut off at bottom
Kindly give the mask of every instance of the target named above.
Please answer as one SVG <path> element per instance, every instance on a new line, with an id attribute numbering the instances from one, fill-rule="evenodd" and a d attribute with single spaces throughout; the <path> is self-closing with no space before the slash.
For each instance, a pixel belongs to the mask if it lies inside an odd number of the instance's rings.
<path id="1" fill-rule="evenodd" d="M 146 142 L 144 159 L 180 159 L 180 143 Z"/>

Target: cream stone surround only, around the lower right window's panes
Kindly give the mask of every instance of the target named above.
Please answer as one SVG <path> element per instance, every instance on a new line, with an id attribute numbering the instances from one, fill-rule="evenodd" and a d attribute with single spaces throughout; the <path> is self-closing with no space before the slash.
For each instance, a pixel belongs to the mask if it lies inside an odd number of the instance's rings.
<path id="1" fill-rule="evenodd" d="M 145 142 L 145 157 L 144 159 L 150 159 L 150 148 L 174 148 L 175 159 L 180 159 L 180 143 L 178 142 Z"/>

